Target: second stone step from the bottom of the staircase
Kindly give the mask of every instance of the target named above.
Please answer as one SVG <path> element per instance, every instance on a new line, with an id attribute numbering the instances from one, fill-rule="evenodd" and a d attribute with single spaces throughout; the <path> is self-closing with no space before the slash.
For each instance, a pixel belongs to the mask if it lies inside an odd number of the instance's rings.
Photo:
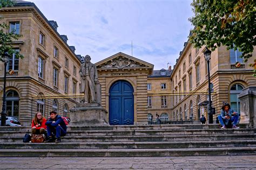
<path id="1" fill-rule="evenodd" d="M 2 149 L 158 149 L 158 148 L 208 148 L 256 147 L 256 140 L 222 141 L 144 141 L 144 142 L 81 142 L 81 143 L 1 143 Z"/>

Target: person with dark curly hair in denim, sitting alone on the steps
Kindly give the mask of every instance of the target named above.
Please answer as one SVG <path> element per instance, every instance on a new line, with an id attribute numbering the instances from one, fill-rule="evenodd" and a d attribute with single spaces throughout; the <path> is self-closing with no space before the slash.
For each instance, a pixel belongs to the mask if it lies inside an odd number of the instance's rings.
<path id="1" fill-rule="evenodd" d="M 226 129 L 227 125 L 233 122 L 233 128 L 237 127 L 238 122 L 238 113 L 235 112 L 232 108 L 230 108 L 230 104 L 224 103 L 223 107 L 221 108 L 220 115 L 218 116 L 219 123 L 222 125 L 221 129 Z"/>

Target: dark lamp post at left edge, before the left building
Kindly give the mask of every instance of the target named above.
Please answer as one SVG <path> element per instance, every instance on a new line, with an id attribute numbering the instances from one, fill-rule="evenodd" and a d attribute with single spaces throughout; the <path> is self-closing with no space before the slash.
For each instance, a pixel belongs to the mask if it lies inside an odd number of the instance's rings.
<path id="1" fill-rule="evenodd" d="M 3 108 L 2 108 L 2 113 L 1 113 L 1 126 L 6 125 L 6 93 L 5 93 L 5 86 L 6 86 L 6 66 L 7 63 L 9 62 L 9 57 L 10 55 L 8 52 L 4 52 L 2 56 L 2 62 L 4 62 L 4 94 L 3 94 Z"/>

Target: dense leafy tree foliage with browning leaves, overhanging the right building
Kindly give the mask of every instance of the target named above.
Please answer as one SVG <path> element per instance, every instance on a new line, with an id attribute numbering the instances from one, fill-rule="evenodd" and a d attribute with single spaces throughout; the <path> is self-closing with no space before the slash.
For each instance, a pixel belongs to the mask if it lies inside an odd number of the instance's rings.
<path id="1" fill-rule="evenodd" d="M 193 0 L 194 26 L 190 41 L 195 47 L 206 45 L 214 51 L 221 44 L 239 49 L 246 62 L 256 45 L 255 0 Z M 256 76 L 256 61 L 254 67 Z"/>

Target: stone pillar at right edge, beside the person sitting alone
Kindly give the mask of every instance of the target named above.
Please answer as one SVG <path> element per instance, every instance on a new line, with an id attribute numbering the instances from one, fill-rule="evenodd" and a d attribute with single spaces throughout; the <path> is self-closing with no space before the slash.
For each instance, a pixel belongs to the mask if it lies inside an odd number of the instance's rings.
<path id="1" fill-rule="evenodd" d="M 249 128 L 256 128 L 256 87 L 242 89 L 240 99 L 240 123 L 249 123 Z"/>

